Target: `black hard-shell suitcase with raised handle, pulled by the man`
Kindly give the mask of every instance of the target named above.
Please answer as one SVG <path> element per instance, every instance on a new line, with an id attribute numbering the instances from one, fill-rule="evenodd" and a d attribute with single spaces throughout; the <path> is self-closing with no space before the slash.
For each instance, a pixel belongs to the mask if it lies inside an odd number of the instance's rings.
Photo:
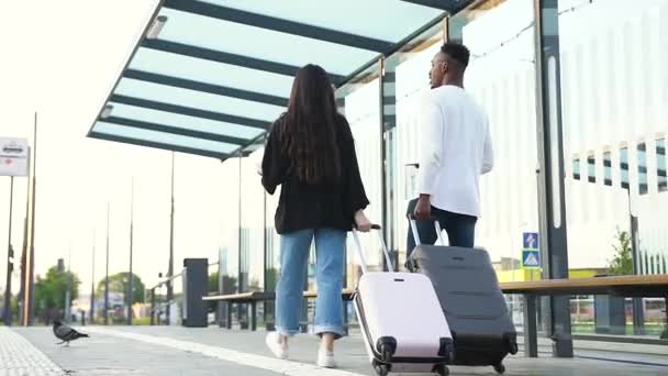
<path id="1" fill-rule="evenodd" d="M 455 341 L 453 364 L 493 366 L 503 374 L 505 356 L 517 353 L 517 334 L 489 254 L 480 248 L 421 245 L 415 222 L 410 222 L 417 246 L 407 264 L 434 284 Z M 438 222 L 435 225 L 442 239 Z"/>

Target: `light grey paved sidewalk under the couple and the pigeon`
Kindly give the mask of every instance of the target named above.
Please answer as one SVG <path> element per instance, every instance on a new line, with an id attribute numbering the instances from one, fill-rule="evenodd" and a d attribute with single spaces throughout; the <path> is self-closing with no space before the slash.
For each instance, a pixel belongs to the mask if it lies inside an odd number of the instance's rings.
<path id="1" fill-rule="evenodd" d="M 265 332 L 224 331 L 219 328 L 180 327 L 87 327 L 91 339 L 55 345 L 51 328 L 13 329 L 64 369 L 64 375 L 243 375 L 243 376 L 372 376 L 361 340 L 352 335 L 337 344 L 341 368 L 330 371 L 313 365 L 316 340 L 310 335 L 291 342 L 291 361 L 270 356 L 264 345 Z M 0 331 L 0 343 L 9 331 Z M 10 334 L 16 341 L 16 334 Z M 25 341 L 24 341 L 25 342 Z M 33 349 L 34 349 L 33 347 Z M 0 345 L 0 349 L 3 349 Z M 15 355 L 14 355 L 15 356 Z M 516 376 L 659 376 L 666 366 L 552 357 L 512 356 L 506 375 Z M 0 376 L 14 375 L 2 374 Z M 496 375 L 491 367 L 452 367 L 453 375 Z M 23 373 L 21 376 L 60 375 Z"/>

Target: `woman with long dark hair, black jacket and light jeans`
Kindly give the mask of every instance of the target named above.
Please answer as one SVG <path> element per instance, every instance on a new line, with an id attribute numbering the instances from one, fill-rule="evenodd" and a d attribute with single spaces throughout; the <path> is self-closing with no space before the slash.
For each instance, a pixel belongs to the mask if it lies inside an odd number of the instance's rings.
<path id="1" fill-rule="evenodd" d="M 267 346 L 288 357 L 288 338 L 299 332 L 302 291 L 311 243 L 315 240 L 318 300 L 315 333 L 321 338 L 318 365 L 334 367 L 334 341 L 343 335 L 344 252 L 346 233 L 369 231 L 368 206 L 350 126 L 336 110 L 326 71 L 301 68 L 288 111 L 272 125 L 261 165 L 269 193 L 281 186 L 276 231 L 281 274 L 276 289 L 276 332 Z"/>

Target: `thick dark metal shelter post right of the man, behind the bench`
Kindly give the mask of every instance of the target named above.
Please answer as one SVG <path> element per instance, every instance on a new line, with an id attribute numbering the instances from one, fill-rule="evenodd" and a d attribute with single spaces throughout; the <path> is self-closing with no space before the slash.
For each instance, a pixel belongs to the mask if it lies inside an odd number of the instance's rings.
<path id="1" fill-rule="evenodd" d="M 568 278 L 558 1 L 534 0 L 534 12 L 543 277 Z M 569 298 L 548 300 L 546 321 L 553 354 L 572 357 Z"/>

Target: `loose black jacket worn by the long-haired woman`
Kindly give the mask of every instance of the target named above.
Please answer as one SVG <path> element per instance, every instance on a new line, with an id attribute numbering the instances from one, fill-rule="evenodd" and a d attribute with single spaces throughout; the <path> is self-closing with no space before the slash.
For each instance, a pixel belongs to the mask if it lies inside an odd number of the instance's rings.
<path id="1" fill-rule="evenodd" d="M 281 186 L 275 215 L 276 231 L 279 234 L 305 229 L 349 231 L 355 212 L 369 204 L 359 176 L 350 125 L 343 115 L 338 117 L 339 181 L 308 185 L 300 181 L 296 168 L 290 168 L 292 162 L 281 152 L 282 119 L 271 126 L 263 157 L 263 186 L 270 195 Z"/>

